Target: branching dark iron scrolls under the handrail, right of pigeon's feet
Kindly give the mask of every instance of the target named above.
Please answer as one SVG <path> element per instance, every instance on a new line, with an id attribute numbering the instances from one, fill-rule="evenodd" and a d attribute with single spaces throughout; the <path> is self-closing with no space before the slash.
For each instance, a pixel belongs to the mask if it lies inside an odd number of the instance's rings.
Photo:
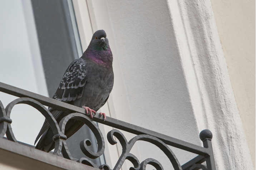
<path id="1" fill-rule="evenodd" d="M 115 165 L 113 170 L 119 170 L 122 167 L 125 159 L 131 161 L 131 163 L 134 166 L 131 167 L 130 170 L 146 170 L 147 164 L 153 165 L 157 170 L 163 170 L 162 165 L 155 159 L 146 159 L 141 164 L 139 164 L 137 157 L 130 153 L 134 143 L 138 140 L 147 141 L 149 143 L 156 145 L 159 149 L 161 149 L 164 152 L 164 154 L 166 154 L 168 159 L 171 161 L 174 170 L 182 170 L 181 165 L 179 164 L 179 161 L 176 158 L 173 151 L 165 143 L 163 143 L 163 141 L 159 140 L 154 136 L 137 135 L 128 142 L 119 130 L 113 129 L 110 132 L 108 132 L 107 135 L 108 141 L 112 145 L 117 144 L 117 141 L 114 140 L 113 136 L 115 136 L 120 141 L 120 144 L 123 148 L 122 155 L 118 159 L 117 164 Z"/>

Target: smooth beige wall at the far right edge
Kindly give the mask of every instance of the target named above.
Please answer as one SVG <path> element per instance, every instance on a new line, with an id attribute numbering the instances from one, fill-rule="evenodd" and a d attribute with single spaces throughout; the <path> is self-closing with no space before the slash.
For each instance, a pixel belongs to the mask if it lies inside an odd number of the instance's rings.
<path id="1" fill-rule="evenodd" d="M 255 168 L 255 1 L 212 0 L 212 7 Z"/>

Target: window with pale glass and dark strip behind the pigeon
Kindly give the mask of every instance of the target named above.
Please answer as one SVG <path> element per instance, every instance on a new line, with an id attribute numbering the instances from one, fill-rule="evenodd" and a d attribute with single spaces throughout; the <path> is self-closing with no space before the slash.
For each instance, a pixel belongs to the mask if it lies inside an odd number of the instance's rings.
<path id="1" fill-rule="evenodd" d="M 83 53 L 72 1 L 15 2 L 1 2 L 1 6 L 5 7 L 2 13 L 6 16 L 2 20 L 6 22 L 5 26 L 9 25 L 9 27 L 1 27 L 1 32 L 5 33 L 5 36 L 4 34 L 1 36 L 4 38 L 0 40 L 2 47 L 0 51 L 3 54 L 1 61 L 6 64 L 1 67 L 1 72 L 4 74 L 1 74 L 0 81 L 52 97 L 69 64 Z M 42 88 L 44 88 L 43 92 Z M 1 93 L 0 96 L 9 95 Z M 1 97 L 4 106 L 14 99 L 15 97 L 7 97 L 7 99 Z M 13 125 L 15 136 L 18 140 L 33 145 L 35 136 L 43 125 L 44 117 L 40 115 L 38 120 L 40 113 L 31 117 L 32 113 L 37 112 L 35 109 L 26 105 L 18 107 L 17 113 L 12 112 L 11 115 L 14 121 L 17 120 L 16 126 Z M 24 113 L 20 110 L 24 110 Z M 25 112 L 30 112 L 28 116 L 30 125 L 27 129 L 21 128 L 24 126 L 23 120 L 27 117 Z M 86 157 L 79 148 L 80 141 L 84 140 L 83 136 L 92 141 L 90 149 L 97 150 L 94 135 L 84 125 L 67 140 L 74 158 Z M 95 164 L 103 164 L 104 156 L 92 161 Z"/>

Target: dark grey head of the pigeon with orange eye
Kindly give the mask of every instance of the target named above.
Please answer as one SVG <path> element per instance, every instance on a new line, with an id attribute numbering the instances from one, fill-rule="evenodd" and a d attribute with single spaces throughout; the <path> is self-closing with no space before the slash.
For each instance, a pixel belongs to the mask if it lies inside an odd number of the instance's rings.
<path id="1" fill-rule="evenodd" d="M 104 30 L 98 30 L 94 32 L 90 44 L 94 49 L 105 50 L 108 48 L 108 38 Z"/>

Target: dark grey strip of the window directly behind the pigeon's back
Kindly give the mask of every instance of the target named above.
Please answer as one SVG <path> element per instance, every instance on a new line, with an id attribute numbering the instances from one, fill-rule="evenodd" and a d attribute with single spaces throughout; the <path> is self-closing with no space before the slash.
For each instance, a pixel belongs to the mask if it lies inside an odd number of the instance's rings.
<path id="1" fill-rule="evenodd" d="M 52 97 L 59 86 L 69 64 L 79 58 L 77 44 L 67 0 L 31 0 L 38 34 L 40 52 L 49 96 Z M 72 7 L 73 9 L 73 7 Z M 75 28 L 77 29 L 77 28 Z M 80 45 L 80 44 L 79 44 Z M 92 143 L 97 143 L 90 129 L 84 125 L 67 140 L 70 153 L 74 158 L 86 157 L 79 148 L 84 136 Z M 97 152 L 97 146 L 89 148 Z M 103 158 L 92 160 L 95 164 L 103 164 Z"/>

